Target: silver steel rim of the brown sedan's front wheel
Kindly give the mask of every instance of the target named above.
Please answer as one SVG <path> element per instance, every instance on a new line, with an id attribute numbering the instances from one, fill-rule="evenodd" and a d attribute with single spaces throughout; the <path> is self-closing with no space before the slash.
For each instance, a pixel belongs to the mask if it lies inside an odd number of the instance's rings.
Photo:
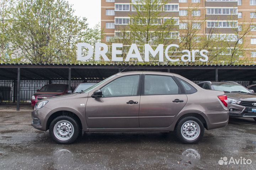
<path id="1" fill-rule="evenodd" d="M 74 135 L 74 126 L 68 120 L 60 120 L 54 125 L 53 134 L 58 140 L 69 140 Z"/>

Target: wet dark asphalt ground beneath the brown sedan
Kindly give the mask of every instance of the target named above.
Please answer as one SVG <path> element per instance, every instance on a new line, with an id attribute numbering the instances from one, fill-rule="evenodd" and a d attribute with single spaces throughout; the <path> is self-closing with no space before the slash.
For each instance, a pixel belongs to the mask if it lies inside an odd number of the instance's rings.
<path id="1" fill-rule="evenodd" d="M 167 132 L 91 133 L 58 145 L 34 129 L 30 112 L 0 112 L 0 170 L 66 169 L 256 169 L 256 121 L 230 118 L 183 145 Z M 250 165 L 219 165 L 220 158 L 251 159 Z"/>

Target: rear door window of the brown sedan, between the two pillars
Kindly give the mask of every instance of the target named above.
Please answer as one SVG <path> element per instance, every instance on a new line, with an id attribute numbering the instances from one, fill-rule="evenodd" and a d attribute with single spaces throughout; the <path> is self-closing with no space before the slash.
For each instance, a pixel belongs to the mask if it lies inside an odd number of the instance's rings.
<path id="1" fill-rule="evenodd" d="M 179 87 L 170 76 L 145 75 L 144 95 L 173 95 L 179 93 Z"/>

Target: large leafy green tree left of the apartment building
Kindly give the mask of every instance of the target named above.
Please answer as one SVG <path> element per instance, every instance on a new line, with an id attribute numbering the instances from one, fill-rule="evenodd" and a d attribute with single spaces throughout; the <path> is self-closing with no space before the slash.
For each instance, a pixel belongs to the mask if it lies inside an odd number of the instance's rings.
<path id="1" fill-rule="evenodd" d="M 13 45 L 25 62 L 75 63 L 76 43 L 100 33 L 65 0 L 20 0 L 13 17 Z"/>

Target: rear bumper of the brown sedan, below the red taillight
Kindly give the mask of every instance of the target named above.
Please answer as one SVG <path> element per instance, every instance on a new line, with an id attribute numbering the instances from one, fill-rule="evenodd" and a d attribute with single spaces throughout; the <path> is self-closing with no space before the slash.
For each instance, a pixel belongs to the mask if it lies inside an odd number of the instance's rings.
<path id="1" fill-rule="evenodd" d="M 215 110 L 203 112 L 207 117 L 207 130 L 223 128 L 228 125 L 229 112 L 228 110 Z"/>

